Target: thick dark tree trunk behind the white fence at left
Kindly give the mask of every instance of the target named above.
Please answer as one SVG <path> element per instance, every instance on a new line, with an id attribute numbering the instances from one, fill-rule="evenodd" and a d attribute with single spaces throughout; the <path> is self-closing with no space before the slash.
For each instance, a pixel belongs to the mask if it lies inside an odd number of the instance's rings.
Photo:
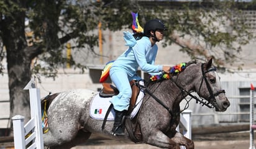
<path id="1" fill-rule="evenodd" d="M 16 11 L 1 21 L 1 37 L 7 53 L 9 76 L 10 117 L 23 115 L 30 119 L 29 91 L 24 87 L 30 81 L 32 56 L 27 54 L 25 39 L 25 12 Z"/>

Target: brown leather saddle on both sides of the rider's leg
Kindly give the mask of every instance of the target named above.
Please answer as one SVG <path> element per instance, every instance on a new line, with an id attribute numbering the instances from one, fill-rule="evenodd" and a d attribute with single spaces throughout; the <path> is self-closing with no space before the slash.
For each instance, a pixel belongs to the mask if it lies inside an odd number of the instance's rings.
<path id="1" fill-rule="evenodd" d="M 140 93 L 140 88 L 137 84 L 137 81 L 132 80 L 130 81 L 130 87 L 132 88 L 132 97 L 130 97 L 130 105 L 128 109 L 128 113 L 132 112 L 132 109 L 135 106 L 137 96 Z M 99 96 L 101 97 L 112 97 L 119 94 L 118 89 L 113 86 L 111 83 L 103 83 L 103 89 L 99 92 Z"/>

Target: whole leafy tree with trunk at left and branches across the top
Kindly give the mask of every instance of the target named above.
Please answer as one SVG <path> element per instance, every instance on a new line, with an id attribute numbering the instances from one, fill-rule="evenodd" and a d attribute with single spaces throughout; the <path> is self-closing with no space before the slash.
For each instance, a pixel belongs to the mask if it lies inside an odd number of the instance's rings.
<path id="1" fill-rule="evenodd" d="M 94 52 L 98 35 L 91 31 L 97 29 L 99 22 L 103 22 L 103 29 L 113 31 L 130 28 L 130 11 L 140 10 L 140 24 L 152 16 L 167 22 L 169 32 L 163 46 L 176 43 L 191 58 L 214 56 L 220 66 L 224 61 L 231 63 L 237 58 L 240 45 L 252 38 L 244 20 L 234 19 L 240 15 L 240 6 L 243 5 L 232 1 L 0 0 L 0 35 L 6 47 L 6 53 L 1 49 L 0 58 L 2 62 L 6 54 L 11 116 L 21 114 L 29 119 L 29 94 L 23 90 L 24 84 L 32 73 L 54 78 L 57 69 L 67 61 L 62 54 L 66 42 L 75 39 L 78 50 Z M 35 39 L 31 46 L 25 36 L 25 20 L 29 20 Z M 239 44 L 235 47 L 234 43 Z M 222 49 L 221 53 L 216 47 Z M 44 61 L 45 65 L 35 63 L 31 67 L 34 59 Z M 81 70 L 86 68 L 72 58 L 70 64 Z"/>

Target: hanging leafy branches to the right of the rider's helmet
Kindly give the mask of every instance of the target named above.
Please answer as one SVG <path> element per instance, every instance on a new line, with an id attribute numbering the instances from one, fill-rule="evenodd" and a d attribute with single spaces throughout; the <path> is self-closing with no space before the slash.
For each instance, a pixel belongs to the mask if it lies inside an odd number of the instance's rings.
<path id="1" fill-rule="evenodd" d="M 232 65 L 239 59 L 241 46 L 254 38 L 241 11 L 248 7 L 234 1 L 209 1 L 188 2 L 181 9 L 166 10 L 162 13 L 169 22 L 166 45 L 180 45 L 180 51 L 193 59 L 211 56 L 218 66 Z"/>

